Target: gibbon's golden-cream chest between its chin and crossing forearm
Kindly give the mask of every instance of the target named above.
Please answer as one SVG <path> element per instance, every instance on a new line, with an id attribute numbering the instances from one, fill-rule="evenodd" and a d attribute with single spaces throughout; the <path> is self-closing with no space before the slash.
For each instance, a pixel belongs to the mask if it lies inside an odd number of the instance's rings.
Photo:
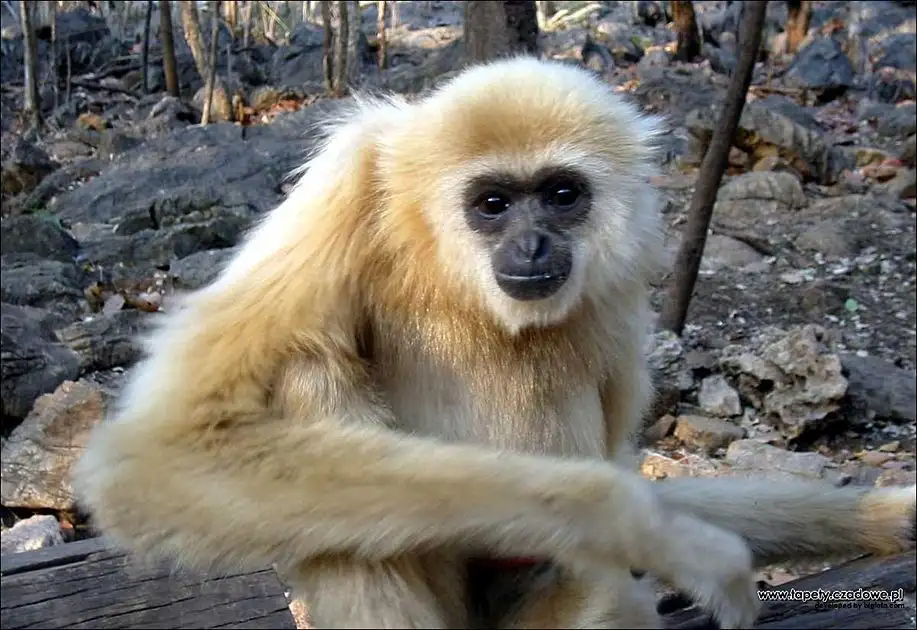
<path id="1" fill-rule="evenodd" d="M 455 352 L 448 333 L 429 326 L 379 333 L 370 363 L 397 429 L 527 453 L 604 456 L 598 381 L 588 374 L 493 352 L 484 338 Z"/>

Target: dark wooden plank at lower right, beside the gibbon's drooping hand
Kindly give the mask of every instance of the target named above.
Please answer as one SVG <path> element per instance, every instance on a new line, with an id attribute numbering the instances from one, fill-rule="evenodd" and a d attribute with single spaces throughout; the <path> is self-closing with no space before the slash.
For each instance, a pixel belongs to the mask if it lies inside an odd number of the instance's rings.
<path id="1" fill-rule="evenodd" d="M 887 557 L 864 557 L 809 575 L 769 590 L 774 591 L 856 591 L 901 589 L 904 601 L 868 602 L 862 599 L 843 604 L 805 601 L 770 601 L 764 604 L 755 628 L 761 630 L 826 630 L 847 628 L 886 630 L 915 627 L 914 594 L 917 591 L 917 555 L 904 552 Z M 695 608 L 680 610 L 665 617 L 670 630 L 711 630 L 716 628 L 708 615 Z"/>

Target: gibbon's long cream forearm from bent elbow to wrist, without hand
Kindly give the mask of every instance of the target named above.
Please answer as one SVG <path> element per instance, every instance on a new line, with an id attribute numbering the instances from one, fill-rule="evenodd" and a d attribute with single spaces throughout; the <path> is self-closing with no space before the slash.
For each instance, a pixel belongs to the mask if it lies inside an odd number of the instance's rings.
<path id="1" fill-rule="evenodd" d="M 254 411 L 231 377 L 237 399 L 192 395 L 206 377 L 178 366 L 156 382 L 158 360 L 141 366 L 124 411 L 97 429 L 76 472 L 94 522 L 128 548 L 255 568 L 459 543 L 662 569 L 662 514 L 643 480 L 612 465 L 401 436 L 318 363 L 296 368 L 316 396 L 310 411 L 280 417 Z M 205 363 L 202 375 L 227 372 Z M 134 399 L 145 380 L 148 398 Z"/>

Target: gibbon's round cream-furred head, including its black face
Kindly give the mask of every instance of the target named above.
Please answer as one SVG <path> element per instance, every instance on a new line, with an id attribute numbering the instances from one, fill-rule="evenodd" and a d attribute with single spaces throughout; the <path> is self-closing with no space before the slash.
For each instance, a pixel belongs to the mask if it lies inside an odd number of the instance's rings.
<path id="1" fill-rule="evenodd" d="M 658 268 L 658 122 L 591 72 L 491 62 L 406 111 L 382 151 L 412 191 L 394 205 L 421 210 L 439 264 L 510 330 L 613 305 Z"/>

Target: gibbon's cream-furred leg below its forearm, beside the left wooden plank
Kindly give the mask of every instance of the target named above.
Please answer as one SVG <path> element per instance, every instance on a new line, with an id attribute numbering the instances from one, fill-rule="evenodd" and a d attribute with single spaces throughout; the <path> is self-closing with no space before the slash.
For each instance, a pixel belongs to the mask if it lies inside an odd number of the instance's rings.
<path id="1" fill-rule="evenodd" d="M 314 628 L 464 628 L 464 565 L 439 555 L 324 556 L 285 576 Z"/>

